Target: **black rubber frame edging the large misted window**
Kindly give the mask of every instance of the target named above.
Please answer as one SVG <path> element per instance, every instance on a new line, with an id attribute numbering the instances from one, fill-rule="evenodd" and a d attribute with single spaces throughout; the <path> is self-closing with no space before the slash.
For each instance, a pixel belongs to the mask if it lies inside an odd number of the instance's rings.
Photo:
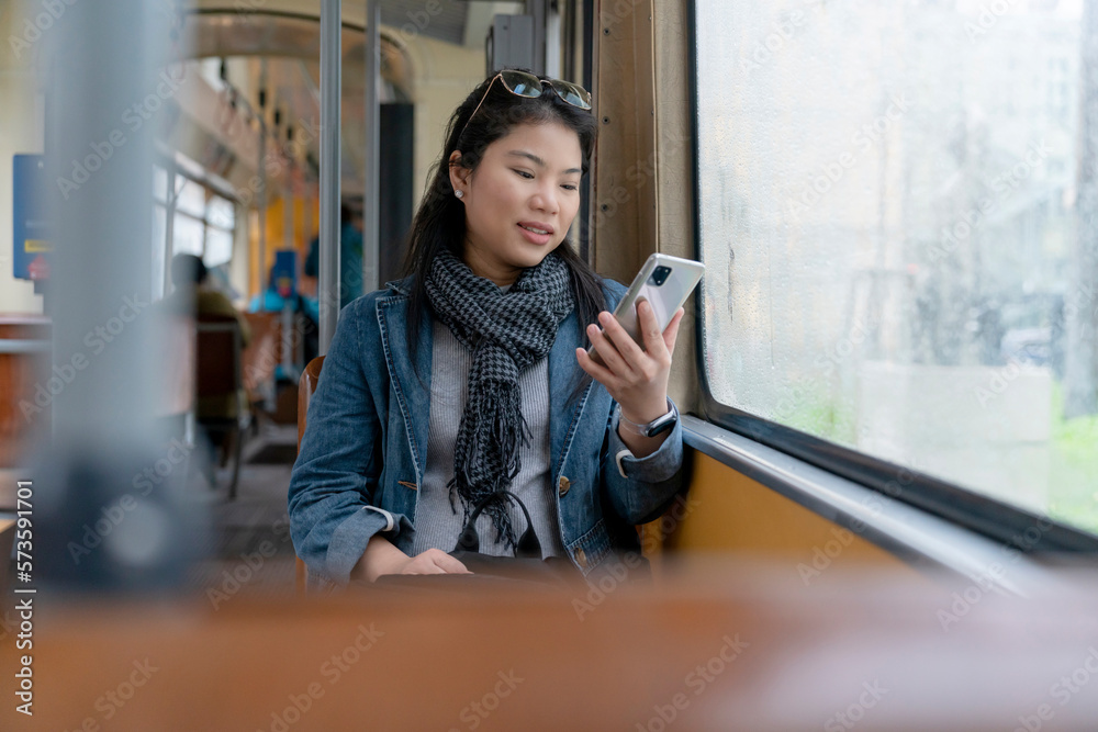
<path id="1" fill-rule="evenodd" d="M 694 258 L 702 259 L 702 180 L 698 167 L 699 104 L 698 104 L 698 43 L 697 2 L 690 0 L 686 8 L 686 45 L 688 50 L 687 95 L 690 98 L 691 176 L 694 184 L 693 239 Z M 949 481 L 919 473 L 901 465 L 874 458 L 854 449 L 829 442 L 807 432 L 764 419 L 742 409 L 718 402 L 709 384 L 706 368 L 705 294 L 698 288 L 695 297 L 695 369 L 704 419 L 768 448 L 778 450 L 833 475 L 849 480 L 883 496 L 910 505 L 951 523 L 968 529 L 1022 553 L 1098 553 L 1098 536 L 1038 515 L 1012 504 L 963 488 Z M 896 487 L 901 484 L 899 493 Z M 1038 527 L 1038 538 L 1031 539 L 1027 530 Z"/>

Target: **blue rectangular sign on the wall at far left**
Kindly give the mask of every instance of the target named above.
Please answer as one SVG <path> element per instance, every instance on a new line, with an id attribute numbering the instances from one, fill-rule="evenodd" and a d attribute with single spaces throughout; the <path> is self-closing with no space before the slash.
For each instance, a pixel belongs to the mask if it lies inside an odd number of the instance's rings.
<path id="1" fill-rule="evenodd" d="M 49 278 L 49 232 L 46 226 L 46 165 L 41 155 L 12 159 L 13 274 L 21 280 Z"/>

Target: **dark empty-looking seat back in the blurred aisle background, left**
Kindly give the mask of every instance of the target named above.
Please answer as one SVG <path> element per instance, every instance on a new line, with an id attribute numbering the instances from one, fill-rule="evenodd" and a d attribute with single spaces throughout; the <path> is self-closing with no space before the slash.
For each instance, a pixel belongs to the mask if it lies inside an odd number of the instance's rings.
<path id="1" fill-rule="evenodd" d="M 199 317 L 195 346 L 194 391 L 198 397 L 197 421 L 208 436 L 220 436 L 221 443 L 232 440 L 233 477 L 228 499 L 236 498 L 240 476 L 240 454 L 244 438 L 251 424 L 251 412 L 245 403 L 242 373 L 240 326 L 229 316 Z M 225 450 L 228 452 L 227 448 Z M 213 461 L 208 477 L 213 478 Z"/>

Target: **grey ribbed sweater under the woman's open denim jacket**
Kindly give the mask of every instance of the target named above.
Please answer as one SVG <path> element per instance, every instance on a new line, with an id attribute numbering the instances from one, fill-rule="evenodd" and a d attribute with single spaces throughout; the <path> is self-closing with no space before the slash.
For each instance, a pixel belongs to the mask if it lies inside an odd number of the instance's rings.
<path id="1" fill-rule="evenodd" d="M 453 477 L 453 443 L 458 437 L 461 414 L 466 408 L 466 392 L 472 353 L 453 337 L 450 329 L 434 322 L 434 346 L 430 368 L 430 420 L 427 428 L 427 470 L 416 500 L 413 556 L 427 549 L 452 551 L 462 529 L 462 506 L 456 498 L 450 507 L 446 484 Z M 534 532 L 541 542 L 542 556 L 564 556 L 557 515 L 557 492 L 550 485 L 549 465 L 549 359 L 534 363 L 519 374 L 523 393 L 523 416 L 530 429 L 530 443 L 520 447 L 522 470 L 511 485 L 530 511 Z M 514 503 L 508 504 L 515 536 L 526 530 L 526 517 Z M 495 527 L 488 513 L 477 519 L 480 552 L 511 556 L 514 549 L 498 542 Z"/>

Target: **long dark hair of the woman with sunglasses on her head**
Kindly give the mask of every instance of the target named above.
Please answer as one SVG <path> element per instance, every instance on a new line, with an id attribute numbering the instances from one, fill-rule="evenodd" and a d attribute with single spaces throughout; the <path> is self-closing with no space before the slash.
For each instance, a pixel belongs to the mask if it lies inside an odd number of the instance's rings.
<path id="1" fill-rule="evenodd" d="M 463 259 L 466 209 L 453 195 L 453 187 L 450 184 L 450 155 L 455 150 L 461 150 L 461 159 L 453 165 L 460 165 L 472 171 L 480 164 L 484 149 L 507 135 L 516 125 L 557 123 L 572 129 L 579 136 L 580 149 L 583 153 L 583 174 L 587 172 L 587 160 L 595 145 L 597 129 L 591 112 L 565 103 L 549 89 L 536 99 L 518 97 L 507 91 L 500 81 L 492 85 L 495 76 L 492 74 L 479 83 L 450 115 L 442 154 L 432 167 L 427 190 L 412 222 L 403 269 L 405 275 L 415 275 L 412 281 L 407 318 L 408 347 L 413 363 L 418 342 L 419 319 L 424 311 L 429 308 L 424 282 L 430 266 L 444 249 L 449 249 L 458 258 Z M 485 97 L 489 85 L 492 85 L 492 89 Z M 475 110 L 481 99 L 484 102 L 479 110 Z M 470 120 L 474 110 L 477 116 Z M 602 278 L 575 252 L 567 237 L 553 251 L 568 264 L 575 296 L 576 316 L 580 328 L 585 329 L 589 323 L 597 319 L 600 311 L 606 307 Z M 584 330 L 584 346 L 590 344 Z M 591 380 L 582 369 L 576 368 L 576 373 L 579 379 L 570 398 L 574 398 Z"/>

